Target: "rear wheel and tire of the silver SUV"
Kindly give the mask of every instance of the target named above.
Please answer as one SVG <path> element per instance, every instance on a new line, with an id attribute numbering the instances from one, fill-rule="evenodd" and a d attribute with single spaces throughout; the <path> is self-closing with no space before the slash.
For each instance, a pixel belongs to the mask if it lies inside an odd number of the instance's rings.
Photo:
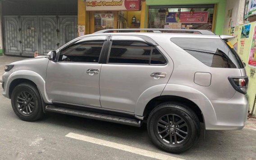
<path id="1" fill-rule="evenodd" d="M 200 122 L 197 115 L 186 105 L 162 103 L 151 111 L 147 120 L 147 131 L 157 147 L 170 153 L 179 153 L 188 150 L 197 142 Z"/>

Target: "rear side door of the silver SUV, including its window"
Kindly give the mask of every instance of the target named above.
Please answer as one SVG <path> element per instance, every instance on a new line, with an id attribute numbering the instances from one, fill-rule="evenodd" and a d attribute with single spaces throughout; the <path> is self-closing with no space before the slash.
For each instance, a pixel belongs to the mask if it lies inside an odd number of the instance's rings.
<path id="1" fill-rule="evenodd" d="M 108 60 L 101 66 L 101 107 L 134 113 L 146 90 L 159 85 L 163 91 L 173 70 L 163 52 L 141 37 L 112 35 Z"/>

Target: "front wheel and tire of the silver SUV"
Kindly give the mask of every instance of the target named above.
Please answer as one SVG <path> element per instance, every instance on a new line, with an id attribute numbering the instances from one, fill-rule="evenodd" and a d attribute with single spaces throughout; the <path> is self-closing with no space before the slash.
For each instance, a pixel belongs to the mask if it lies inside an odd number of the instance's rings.
<path id="1" fill-rule="evenodd" d="M 36 121 L 43 116 L 41 102 L 37 87 L 29 83 L 18 84 L 11 95 L 12 108 L 23 121 Z"/>

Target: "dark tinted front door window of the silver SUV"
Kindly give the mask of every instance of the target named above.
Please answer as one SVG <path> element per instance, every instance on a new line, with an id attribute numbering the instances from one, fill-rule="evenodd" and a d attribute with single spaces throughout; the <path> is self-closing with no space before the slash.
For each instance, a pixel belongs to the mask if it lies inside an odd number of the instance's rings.
<path id="1" fill-rule="evenodd" d="M 98 62 L 104 40 L 73 44 L 60 52 L 59 61 Z"/>

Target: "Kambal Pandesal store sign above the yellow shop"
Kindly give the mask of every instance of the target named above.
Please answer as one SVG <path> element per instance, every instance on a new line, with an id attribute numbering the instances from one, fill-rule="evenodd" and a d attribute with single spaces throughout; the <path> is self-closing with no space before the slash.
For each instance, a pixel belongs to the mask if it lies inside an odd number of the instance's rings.
<path id="1" fill-rule="evenodd" d="M 140 0 L 86 0 L 87 11 L 139 10 Z"/>

